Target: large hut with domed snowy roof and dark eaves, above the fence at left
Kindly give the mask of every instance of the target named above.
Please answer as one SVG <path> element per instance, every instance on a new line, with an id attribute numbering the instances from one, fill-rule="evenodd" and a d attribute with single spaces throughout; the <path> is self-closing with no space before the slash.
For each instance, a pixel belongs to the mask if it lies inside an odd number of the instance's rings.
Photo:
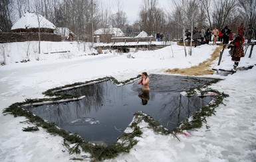
<path id="1" fill-rule="evenodd" d="M 56 26 L 45 19 L 43 16 L 35 13 L 25 13 L 21 19 L 17 20 L 11 27 L 13 32 L 49 32 L 53 33 Z"/>

